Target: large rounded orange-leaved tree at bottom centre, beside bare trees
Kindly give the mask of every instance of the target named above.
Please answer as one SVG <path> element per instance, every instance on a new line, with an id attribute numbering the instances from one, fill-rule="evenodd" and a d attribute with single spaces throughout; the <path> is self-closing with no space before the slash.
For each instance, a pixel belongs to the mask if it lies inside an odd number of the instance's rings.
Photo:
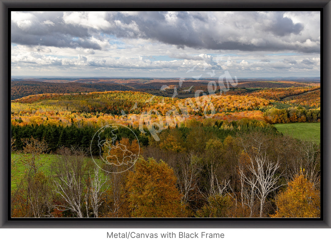
<path id="1" fill-rule="evenodd" d="M 180 217 L 184 213 L 173 170 L 153 158 L 139 158 L 126 188 L 132 217 Z"/>

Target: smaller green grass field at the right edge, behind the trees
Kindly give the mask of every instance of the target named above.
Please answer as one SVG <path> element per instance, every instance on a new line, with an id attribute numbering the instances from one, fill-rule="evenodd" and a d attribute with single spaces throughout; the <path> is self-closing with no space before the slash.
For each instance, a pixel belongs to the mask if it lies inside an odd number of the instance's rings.
<path id="1" fill-rule="evenodd" d="M 276 129 L 284 135 L 292 136 L 301 140 L 313 140 L 320 143 L 321 123 L 286 123 L 274 124 Z"/>

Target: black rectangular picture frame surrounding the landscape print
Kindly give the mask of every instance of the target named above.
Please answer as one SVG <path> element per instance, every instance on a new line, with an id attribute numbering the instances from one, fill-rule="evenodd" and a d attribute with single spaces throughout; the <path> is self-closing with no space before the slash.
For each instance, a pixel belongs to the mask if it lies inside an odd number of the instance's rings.
<path id="1" fill-rule="evenodd" d="M 238 6 L 240 8 L 238 8 Z M 10 218 L 10 21 L 12 10 L 120 8 L 166 10 L 321 10 L 321 218 Z M 0 0 L 0 227 L 1 228 L 330 228 L 331 227 L 331 0 Z"/>

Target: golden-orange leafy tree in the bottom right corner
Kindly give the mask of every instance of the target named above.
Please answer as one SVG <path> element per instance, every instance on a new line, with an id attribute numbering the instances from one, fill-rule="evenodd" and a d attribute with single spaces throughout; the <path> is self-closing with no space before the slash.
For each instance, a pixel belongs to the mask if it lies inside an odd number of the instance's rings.
<path id="1" fill-rule="evenodd" d="M 278 210 L 271 217 L 319 217 L 320 192 L 303 171 L 288 183 L 287 190 L 276 197 Z"/>

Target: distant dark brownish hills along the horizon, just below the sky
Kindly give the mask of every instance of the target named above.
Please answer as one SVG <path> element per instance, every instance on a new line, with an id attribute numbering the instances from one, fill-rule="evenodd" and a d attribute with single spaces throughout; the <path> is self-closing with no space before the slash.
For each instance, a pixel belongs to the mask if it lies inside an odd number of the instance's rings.
<path id="1" fill-rule="evenodd" d="M 72 79 L 72 80 L 71 80 Z M 320 81 L 317 78 L 300 79 L 237 79 L 237 84 L 226 85 L 228 88 L 287 88 L 287 87 L 305 87 L 319 86 Z M 35 81 L 38 80 L 38 81 Z M 40 81 L 42 80 L 42 81 Z M 92 78 L 38 78 L 38 79 L 21 79 L 11 81 L 11 99 L 18 99 L 24 96 L 41 94 L 41 93 L 75 93 L 75 92 L 104 92 L 104 91 L 133 91 L 147 92 L 153 95 L 172 96 L 175 93 L 185 94 L 185 96 L 195 96 L 196 90 L 202 90 L 208 93 L 208 83 L 213 81 L 220 90 L 223 81 L 218 78 L 208 79 L 160 79 L 160 78 L 110 78 L 110 79 L 92 79 Z M 227 83 L 226 81 L 224 82 Z M 224 87 L 224 86 L 223 86 Z M 162 89 L 162 90 L 161 90 Z"/>

